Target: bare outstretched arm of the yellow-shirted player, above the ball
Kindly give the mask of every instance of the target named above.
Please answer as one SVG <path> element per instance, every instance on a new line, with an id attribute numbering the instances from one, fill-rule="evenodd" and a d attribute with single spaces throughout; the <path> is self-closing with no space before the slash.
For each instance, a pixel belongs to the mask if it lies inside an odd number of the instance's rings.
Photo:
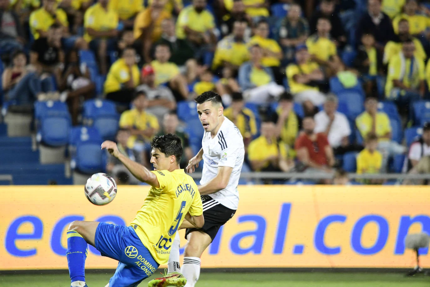
<path id="1" fill-rule="evenodd" d="M 147 184 L 159 188 L 160 183 L 158 182 L 157 176 L 154 173 L 151 173 L 146 167 L 133 160 L 129 159 L 124 154 L 120 153 L 118 150 L 117 144 L 111 141 L 104 141 L 101 144 L 101 149 L 106 148 L 110 154 L 119 159 L 124 166 L 132 173 L 135 178 L 140 180 L 141 182 L 146 182 Z"/>

